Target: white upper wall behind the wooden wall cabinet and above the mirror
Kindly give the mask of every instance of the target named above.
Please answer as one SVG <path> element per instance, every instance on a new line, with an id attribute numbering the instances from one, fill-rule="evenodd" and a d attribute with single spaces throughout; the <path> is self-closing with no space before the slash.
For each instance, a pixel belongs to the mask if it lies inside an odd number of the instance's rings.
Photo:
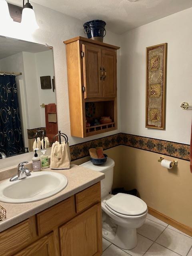
<path id="1" fill-rule="evenodd" d="M 55 84 L 56 84 L 56 103 L 58 113 L 58 129 L 69 137 L 69 143 L 77 144 L 87 140 L 101 138 L 111 134 L 120 132 L 120 51 L 118 50 L 118 130 L 106 132 L 103 134 L 90 136 L 88 138 L 76 138 L 70 136 L 70 118 L 68 103 L 68 83 L 67 83 L 67 65 L 66 65 L 66 48 L 63 41 L 76 36 L 86 36 L 83 32 L 82 21 L 56 12 L 44 6 L 33 4 L 36 19 L 40 26 L 34 34 L 30 35 L 21 30 L 8 30 L 0 28 L 0 35 L 21 40 L 36 42 L 39 44 L 48 44 L 53 46 L 54 52 L 54 68 L 55 68 Z M 87 21 L 87 20 L 85 20 Z M 104 42 L 120 46 L 120 36 L 112 32 L 108 32 L 104 38 Z"/>

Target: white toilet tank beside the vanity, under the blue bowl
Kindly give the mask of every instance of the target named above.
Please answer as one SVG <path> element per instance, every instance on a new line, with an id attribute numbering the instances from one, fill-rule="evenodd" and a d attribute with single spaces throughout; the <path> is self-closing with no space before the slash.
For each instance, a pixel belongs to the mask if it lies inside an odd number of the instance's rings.
<path id="1" fill-rule="evenodd" d="M 107 158 L 104 164 L 95 165 L 91 161 L 85 162 L 80 166 L 94 170 L 96 172 L 103 172 L 105 174 L 104 180 L 101 180 L 101 198 L 106 197 L 110 192 L 113 184 L 113 170 L 115 166 L 114 160 Z"/>

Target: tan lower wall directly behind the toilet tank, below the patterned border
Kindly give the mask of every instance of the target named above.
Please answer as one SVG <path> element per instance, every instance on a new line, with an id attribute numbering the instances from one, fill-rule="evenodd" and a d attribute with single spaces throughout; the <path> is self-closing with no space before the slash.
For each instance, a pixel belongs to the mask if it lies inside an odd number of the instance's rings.
<path id="1" fill-rule="evenodd" d="M 115 161 L 115 168 L 114 168 L 114 179 L 113 179 L 113 188 L 121 187 L 121 146 L 117 146 L 114 148 L 109 148 L 104 150 L 104 153 L 108 155 L 108 157 L 112 158 Z M 84 158 L 80 158 L 78 160 L 72 161 L 72 164 L 82 164 L 86 161 L 89 161 L 89 156 Z"/>

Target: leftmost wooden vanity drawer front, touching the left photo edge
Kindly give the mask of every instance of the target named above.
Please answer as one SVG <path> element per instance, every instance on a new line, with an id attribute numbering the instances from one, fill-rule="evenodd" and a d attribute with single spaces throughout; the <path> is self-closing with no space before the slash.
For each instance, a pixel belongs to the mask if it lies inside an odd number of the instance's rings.
<path id="1" fill-rule="evenodd" d="M 0 233 L 0 255 L 9 256 L 36 237 L 35 216 Z"/>

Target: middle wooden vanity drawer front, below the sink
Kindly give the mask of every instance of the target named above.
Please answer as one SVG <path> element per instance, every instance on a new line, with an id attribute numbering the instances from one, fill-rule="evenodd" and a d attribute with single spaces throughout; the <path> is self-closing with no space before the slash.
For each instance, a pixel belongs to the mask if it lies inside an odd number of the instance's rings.
<path id="1" fill-rule="evenodd" d="M 38 235 L 51 231 L 75 215 L 74 196 L 36 214 Z"/>

